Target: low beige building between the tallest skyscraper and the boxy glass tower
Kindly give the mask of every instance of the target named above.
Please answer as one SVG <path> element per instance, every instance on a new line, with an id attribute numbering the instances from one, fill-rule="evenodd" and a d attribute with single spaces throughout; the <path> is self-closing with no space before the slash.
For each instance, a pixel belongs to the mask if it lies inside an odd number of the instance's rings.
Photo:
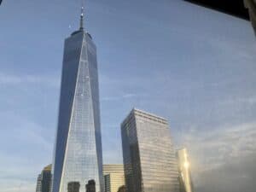
<path id="1" fill-rule="evenodd" d="M 125 185 L 125 172 L 122 164 L 103 165 L 105 192 L 118 192 Z"/>

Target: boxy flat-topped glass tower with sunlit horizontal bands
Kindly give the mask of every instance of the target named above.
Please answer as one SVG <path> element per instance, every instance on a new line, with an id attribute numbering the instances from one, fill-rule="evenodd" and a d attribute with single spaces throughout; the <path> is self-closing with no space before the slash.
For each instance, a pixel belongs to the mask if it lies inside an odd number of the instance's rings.
<path id="1" fill-rule="evenodd" d="M 127 192 L 179 191 L 166 119 L 133 109 L 121 125 Z"/>

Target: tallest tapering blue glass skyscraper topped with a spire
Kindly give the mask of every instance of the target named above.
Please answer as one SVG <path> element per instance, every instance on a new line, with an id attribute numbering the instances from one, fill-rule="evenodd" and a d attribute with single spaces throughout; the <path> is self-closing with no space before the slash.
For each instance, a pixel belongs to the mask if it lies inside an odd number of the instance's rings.
<path id="1" fill-rule="evenodd" d="M 67 192 L 67 184 L 90 179 L 103 192 L 102 137 L 96 45 L 80 29 L 65 40 L 59 119 L 53 164 L 53 192 Z"/>

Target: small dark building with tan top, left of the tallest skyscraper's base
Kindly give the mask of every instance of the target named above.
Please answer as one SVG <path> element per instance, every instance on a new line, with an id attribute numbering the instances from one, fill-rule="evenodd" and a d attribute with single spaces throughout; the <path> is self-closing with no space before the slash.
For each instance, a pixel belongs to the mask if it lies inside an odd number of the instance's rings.
<path id="1" fill-rule="evenodd" d="M 38 175 L 36 192 L 51 192 L 51 165 L 45 166 Z"/>

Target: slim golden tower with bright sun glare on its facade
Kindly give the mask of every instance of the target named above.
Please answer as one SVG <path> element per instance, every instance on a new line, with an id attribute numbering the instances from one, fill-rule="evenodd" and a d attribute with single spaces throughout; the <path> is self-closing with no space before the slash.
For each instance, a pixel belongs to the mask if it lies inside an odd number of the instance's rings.
<path id="1" fill-rule="evenodd" d="M 180 192 L 194 192 L 187 148 L 177 150 Z"/>

